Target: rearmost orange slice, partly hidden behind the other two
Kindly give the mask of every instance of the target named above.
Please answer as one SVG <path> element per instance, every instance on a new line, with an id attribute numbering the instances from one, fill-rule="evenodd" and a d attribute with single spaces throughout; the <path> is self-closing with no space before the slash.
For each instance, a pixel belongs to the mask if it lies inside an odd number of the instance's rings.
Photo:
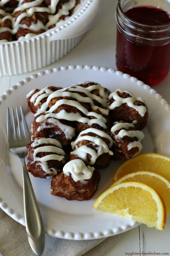
<path id="1" fill-rule="evenodd" d="M 155 153 L 144 153 L 121 164 L 113 175 L 116 181 L 126 174 L 136 171 L 151 171 L 170 181 L 170 157 Z"/>

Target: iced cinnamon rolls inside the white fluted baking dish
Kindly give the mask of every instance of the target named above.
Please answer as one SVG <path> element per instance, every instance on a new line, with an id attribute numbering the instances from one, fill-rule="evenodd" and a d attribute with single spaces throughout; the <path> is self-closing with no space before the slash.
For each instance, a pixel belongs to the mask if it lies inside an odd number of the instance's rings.
<path id="1" fill-rule="evenodd" d="M 63 23 L 83 0 L 0 1 L 0 43 L 28 39 Z"/>

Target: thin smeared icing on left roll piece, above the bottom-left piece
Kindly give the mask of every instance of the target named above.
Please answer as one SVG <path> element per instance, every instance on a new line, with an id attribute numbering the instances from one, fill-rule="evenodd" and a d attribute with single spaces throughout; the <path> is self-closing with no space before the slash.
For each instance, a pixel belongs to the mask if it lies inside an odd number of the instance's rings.
<path id="1" fill-rule="evenodd" d="M 46 123 L 52 123 L 52 125 L 46 125 Z M 43 122 L 42 125 L 37 128 L 37 132 L 40 132 L 45 128 L 53 128 L 55 126 L 58 126 L 64 132 L 66 139 L 72 139 L 72 137 L 75 136 L 75 128 L 66 124 L 62 124 L 59 120 L 55 118 L 49 118 L 45 122 Z"/>

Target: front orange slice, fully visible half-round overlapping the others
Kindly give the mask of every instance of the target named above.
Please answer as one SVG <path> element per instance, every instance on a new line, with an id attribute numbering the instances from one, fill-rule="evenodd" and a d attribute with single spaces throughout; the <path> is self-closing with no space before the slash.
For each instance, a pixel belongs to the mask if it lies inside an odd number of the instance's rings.
<path id="1" fill-rule="evenodd" d="M 110 187 L 98 197 L 93 207 L 160 230 L 166 223 L 166 207 L 161 197 L 140 182 L 122 182 Z"/>

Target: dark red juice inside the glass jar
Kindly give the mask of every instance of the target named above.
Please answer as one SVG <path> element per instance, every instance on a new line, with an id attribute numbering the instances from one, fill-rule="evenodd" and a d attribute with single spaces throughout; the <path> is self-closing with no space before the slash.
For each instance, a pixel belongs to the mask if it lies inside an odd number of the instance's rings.
<path id="1" fill-rule="evenodd" d="M 154 38 L 154 31 L 152 31 L 151 40 L 148 40 L 150 39 L 149 29 L 150 26 L 159 28 L 160 25 L 170 23 L 170 15 L 160 8 L 151 6 L 129 8 L 124 14 L 136 24 L 140 23 L 141 27 L 137 24 L 135 32 L 130 28 L 128 33 L 134 33 L 134 36 L 129 38 L 126 33 L 120 31 L 119 27 L 117 28 L 117 69 L 137 77 L 148 85 L 156 85 L 167 76 L 170 69 L 170 40 L 162 40 L 161 43 L 161 39 L 165 37 L 164 32 L 159 32 L 159 40 L 157 40 L 157 34 Z M 143 27 L 142 24 L 144 24 Z M 138 32 L 139 29 L 141 29 L 140 32 Z"/>

